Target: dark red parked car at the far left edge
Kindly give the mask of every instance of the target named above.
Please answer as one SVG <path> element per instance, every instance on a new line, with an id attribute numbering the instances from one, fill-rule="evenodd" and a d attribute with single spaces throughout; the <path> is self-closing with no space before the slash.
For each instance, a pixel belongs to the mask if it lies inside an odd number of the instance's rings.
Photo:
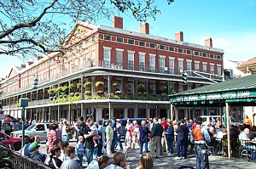
<path id="1" fill-rule="evenodd" d="M 0 132 L 0 143 L 5 147 L 9 148 L 9 145 L 11 145 L 17 151 L 21 149 L 21 142 L 22 138 L 10 137 L 8 134 Z"/>

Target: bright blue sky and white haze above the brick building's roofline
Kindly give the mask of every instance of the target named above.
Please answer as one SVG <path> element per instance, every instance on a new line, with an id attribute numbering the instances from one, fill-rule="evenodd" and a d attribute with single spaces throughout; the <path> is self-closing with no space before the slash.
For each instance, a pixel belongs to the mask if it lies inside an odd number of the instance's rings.
<path id="1" fill-rule="evenodd" d="M 213 48 L 224 50 L 224 59 L 242 61 L 256 56 L 256 0 L 165 0 L 154 1 L 161 10 L 156 20 L 147 20 L 149 34 L 175 39 L 183 31 L 184 42 L 204 45 L 212 38 Z M 140 23 L 131 14 L 115 15 L 124 18 L 125 30 L 139 31 Z M 112 26 L 112 20 L 97 20 L 96 25 Z M 0 77 L 9 75 L 15 65 L 24 61 L 0 55 Z"/>

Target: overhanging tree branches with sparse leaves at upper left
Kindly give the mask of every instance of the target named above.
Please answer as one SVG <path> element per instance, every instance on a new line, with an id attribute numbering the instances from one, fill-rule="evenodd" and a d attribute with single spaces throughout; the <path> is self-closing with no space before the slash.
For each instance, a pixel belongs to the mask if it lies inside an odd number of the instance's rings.
<path id="1" fill-rule="evenodd" d="M 173 0 L 166 0 L 171 4 Z M 154 0 L 0 0 L 0 54 L 22 58 L 62 52 L 69 29 L 96 23 L 114 10 L 141 22 L 160 14 Z"/>

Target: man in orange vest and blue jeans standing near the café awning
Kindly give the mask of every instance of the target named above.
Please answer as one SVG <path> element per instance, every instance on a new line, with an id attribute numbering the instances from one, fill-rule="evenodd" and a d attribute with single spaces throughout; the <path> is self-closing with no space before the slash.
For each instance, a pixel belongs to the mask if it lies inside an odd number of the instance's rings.
<path id="1" fill-rule="evenodd" d="M 207 155 L 207 144 L 211 142 L 211 138 L 207 129 L 201 127 L 201 117 L 196 119 L 196 127 L 192 130 L 191 142 L 195 144 L 196 168 L 210 168 Z"/>

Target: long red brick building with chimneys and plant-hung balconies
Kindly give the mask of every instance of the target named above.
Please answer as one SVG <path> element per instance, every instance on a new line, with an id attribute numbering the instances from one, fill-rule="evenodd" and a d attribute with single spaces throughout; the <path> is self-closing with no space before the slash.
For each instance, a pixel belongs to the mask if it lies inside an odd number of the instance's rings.
<path id="1" fill-rule="evenodd" d="M 79 115 L 96 120 L 113 116 L 170 117 L 168 95 L 223 81 L 224 51 L 149 35 L 149 25 L 140 32 L 123 30 L 123 19 L 113 17 L 113 27 L 78 22 L 66 41 L 65 53 L 38 57 L 29 65 L 14 67 L 1 82 L 0 101 L 4 114 L 20 118 L 16 106 L 28 98 L 26 119 L 48 121 Z M 182 73 L 188 72 L 189 84 Z M 38 88 L 32 88 L 34 77 Z M 193 116 L 179 110 L 176 117 Z"/>

